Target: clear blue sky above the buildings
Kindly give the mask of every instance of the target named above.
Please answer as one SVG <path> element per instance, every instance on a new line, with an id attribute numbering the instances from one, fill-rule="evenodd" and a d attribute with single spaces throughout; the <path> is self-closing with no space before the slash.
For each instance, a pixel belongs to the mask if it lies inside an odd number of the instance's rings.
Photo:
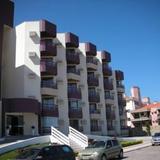
<path id="1" fill-rule="evenodd" d="M 159 0 L 14 0 L 15 25 L 47 19 L 58 32 L 71 31 L 81 42 L 108 50 L 113 69 L 124 71 L 126 93 L 160 101 Z"/>

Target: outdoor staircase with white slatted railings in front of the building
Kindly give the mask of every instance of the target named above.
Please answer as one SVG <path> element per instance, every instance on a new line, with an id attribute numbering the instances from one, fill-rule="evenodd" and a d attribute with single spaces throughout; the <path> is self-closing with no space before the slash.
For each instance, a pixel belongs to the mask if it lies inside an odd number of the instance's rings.
<path id="1" fill-rule="evenodd" d="M 66 136 L 58 129 L 51 127 L 51 143 L 66 144 L 73 148 L 74 151 L 80 151 L 88 146 L 88 137 L 76 129 L 69 127 L 69 134 Z"/>

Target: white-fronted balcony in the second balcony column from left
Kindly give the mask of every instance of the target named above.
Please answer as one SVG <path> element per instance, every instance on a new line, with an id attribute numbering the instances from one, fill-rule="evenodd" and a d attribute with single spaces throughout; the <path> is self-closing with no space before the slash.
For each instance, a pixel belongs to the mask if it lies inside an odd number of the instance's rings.
<path id="1" fill-rule="evenodd" d="M 67 69 L 67 78 L 68 80 L 80 81 L 80 71 L 76 68 Z"/>

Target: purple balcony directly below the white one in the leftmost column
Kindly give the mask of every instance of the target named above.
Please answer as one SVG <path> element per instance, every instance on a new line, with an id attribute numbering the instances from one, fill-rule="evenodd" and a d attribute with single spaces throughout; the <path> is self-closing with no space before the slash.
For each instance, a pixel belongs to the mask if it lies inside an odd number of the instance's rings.
<path id="1" fill-rule="evenodd" d="M 55 104 L 53 106 L 47 106 L 42 104 L 42 116 L 58 117 L 58 106 Z"/>

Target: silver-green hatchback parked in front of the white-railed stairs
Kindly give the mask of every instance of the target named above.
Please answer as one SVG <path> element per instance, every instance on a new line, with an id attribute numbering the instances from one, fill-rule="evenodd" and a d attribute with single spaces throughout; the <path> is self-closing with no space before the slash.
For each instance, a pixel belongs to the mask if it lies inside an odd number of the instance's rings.
<path id="1" fill-rule="evenodd" d="M 118 140 L 114 138 L 93 141 L 78 154 L 79 160 L 107 160 L 116 157 L 123 158 L 123 149 Z"/>

